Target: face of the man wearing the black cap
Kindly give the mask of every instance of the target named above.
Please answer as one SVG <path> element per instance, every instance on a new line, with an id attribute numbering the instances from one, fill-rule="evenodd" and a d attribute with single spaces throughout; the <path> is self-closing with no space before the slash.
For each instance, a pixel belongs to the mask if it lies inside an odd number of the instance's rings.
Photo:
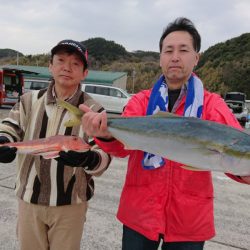
<path id="1" fill-rule="evenodd" d="M 79 55 L 59 51 L 53 56 L 49 70 L 60 87 L 75 87 L 87 76 L 88 70 L 84 70 L 84 64 Z"/>

